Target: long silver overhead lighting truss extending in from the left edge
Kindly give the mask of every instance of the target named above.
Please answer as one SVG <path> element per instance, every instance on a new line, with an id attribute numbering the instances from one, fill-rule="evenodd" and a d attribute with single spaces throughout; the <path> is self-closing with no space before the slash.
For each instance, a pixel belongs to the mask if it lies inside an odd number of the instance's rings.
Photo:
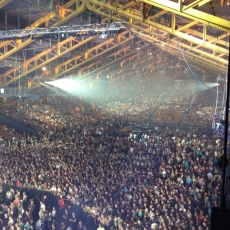
<path id="1" fill-rule="evenodd" d="M 66 36 L 83 36 L 96 34 L 116 34 L 120 30 L 126 29 L 125 23 L 114 22 L 104 24 L 87 24 L 60 26 L 50 28 L 26 28 L 19 30 L 2 30 L 0 31 L 0 40 L 17 40 L 17 39 L 36 39 L 36 38 L 58 38 Z"/>

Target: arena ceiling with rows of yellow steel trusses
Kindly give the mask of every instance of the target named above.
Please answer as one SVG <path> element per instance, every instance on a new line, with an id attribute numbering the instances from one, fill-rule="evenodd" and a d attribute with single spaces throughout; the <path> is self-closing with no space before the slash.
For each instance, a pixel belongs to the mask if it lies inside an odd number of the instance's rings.
<path id="1" fill-rule="evenodd" d="M 0 42 L 0 86 L 36 87 L 39 79 L 78 75 L 114 82 L 138 71 L 185 63 L 225 73 L 229 56 L 229 0 L 0 0 L 1 29 L 125 22 L 107 38 L 26 39 Z M 179 59 L 181 61 L 179 61 Z M 183 66 L 186 66 L 185 64 Z"/>

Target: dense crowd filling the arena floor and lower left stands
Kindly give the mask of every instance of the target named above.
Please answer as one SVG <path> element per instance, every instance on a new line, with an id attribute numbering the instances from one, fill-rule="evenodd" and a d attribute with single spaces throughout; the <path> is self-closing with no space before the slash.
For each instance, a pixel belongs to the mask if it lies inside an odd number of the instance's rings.
<path id="1" fill-rule="evenodd" d="M 177 93 L 189 103 L 192 93 Z M 141 98 L 139 110 L 138 101 L 106 103 L 115 115 L 102 119 L 60 98 L 2 106 L 38 135 L 0 126 L 0 229 L 210 229 L 223 142 L 195 128 L 117 135 L 128 116 L 151 118 L 156 103 Z"/>

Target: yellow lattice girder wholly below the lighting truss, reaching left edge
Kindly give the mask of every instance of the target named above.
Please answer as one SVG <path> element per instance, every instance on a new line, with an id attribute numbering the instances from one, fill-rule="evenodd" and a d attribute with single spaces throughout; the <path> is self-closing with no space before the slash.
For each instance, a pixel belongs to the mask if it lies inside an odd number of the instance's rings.
<path id="1" fill-rule="evenodd" d="M 5 79 L 3 86 L 9 85 L 10 83 L 18 80 L 19 78 L 25 77 L 26 75 L 41 69 L 43 66 L 57 60 L 63 55 L 71 52 L 74 49 L 81 47 L 82 45 L 92 41 L 95 37 L 85 38 L 77 40 L 75 37 L 69 37 L 62 42 L 57 43 L 56 46 L 47 49 L 36 56 L 26 60 L 23 63 L 24 71 L 20 73 L 16 71 L 16 68 L 8 70 L 6 73 L 0 75 L 0 79 Z M 10 78 L 10 80 L 8 80 Z"/>

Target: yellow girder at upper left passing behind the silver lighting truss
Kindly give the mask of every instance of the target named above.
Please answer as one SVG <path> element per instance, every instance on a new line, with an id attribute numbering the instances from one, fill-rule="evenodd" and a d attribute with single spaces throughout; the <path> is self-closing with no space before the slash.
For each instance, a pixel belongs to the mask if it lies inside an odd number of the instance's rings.
<path id="1" fill-rule="evenodd" d="M 74 10 L 68 11 L 66 10 L 66 15 L 65 18 L 63 19 L 58 19 L 58 12 L 51 12 L 48 15 L 42 17 L 38 21 L 34 22 L 31 27 L 32 28 L 37 28 L 44 23 L 46 26 L 61 26 L 67 21 L 71 20 L 72 18 L 76 17 L 78 14 L 81 14 L 82 12 L 85 11 L 86 5 L 82 1 L 78 0 L 71 0 L 67 2 L 63 8 L 74 8 Z M 53 21 L 53 24 L 51 25 L 51 21 Z M 29 27 L 27 27 L 29 28 Z M 23 49 L 24 47 L 28 46 L 29 44 L 33 43 L 34 40 L 31 38 L 18 42 L 18 44 L 15 43 L 15 41 L 5 41 L 0 43 L 0 61 L 6 59 L 10 55 L 14 54 L 15 52 Z"/>

